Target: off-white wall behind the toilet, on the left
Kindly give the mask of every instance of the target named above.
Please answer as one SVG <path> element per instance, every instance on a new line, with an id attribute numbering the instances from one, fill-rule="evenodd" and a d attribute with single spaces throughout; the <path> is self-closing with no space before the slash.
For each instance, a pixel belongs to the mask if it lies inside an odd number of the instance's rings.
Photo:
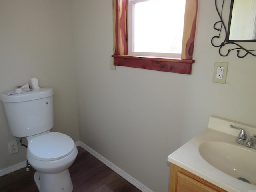
<path id="1" fill-rule="evenodd" d="M 77 141 L 72 48 L 70 0 L 0 0 L 0 93 L 37 77 L 39 86 L 54 88 L 52 131 Z M 23 146 L 9 154 L 8 143 L 14 140 L 0 102 L 0 170 L 26 160 Z"/>

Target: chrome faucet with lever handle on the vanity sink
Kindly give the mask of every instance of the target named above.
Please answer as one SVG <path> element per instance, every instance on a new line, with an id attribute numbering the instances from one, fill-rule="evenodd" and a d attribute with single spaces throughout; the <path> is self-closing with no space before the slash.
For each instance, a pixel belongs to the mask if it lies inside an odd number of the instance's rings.
<path id="1" fill-rule="evenodd" d="M 246 130 L 244 130 L 243 128 L 236 127 L 234 125 L 230 125 L 230 127 L 240 130 L 240 133 L 236 138 L 237 143 L 256 149 L 256 135 L 250 136 L 248 138 L 248 134 L 246 134 Z"/>

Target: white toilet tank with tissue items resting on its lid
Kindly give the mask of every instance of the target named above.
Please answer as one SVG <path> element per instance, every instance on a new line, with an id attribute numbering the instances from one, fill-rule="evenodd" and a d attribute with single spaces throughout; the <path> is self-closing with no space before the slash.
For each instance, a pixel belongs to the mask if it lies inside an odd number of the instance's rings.
<path id="1" fill-rule="evenodd" d="M 10 132 L 27 137 L 50 130 L 53 120 L 53 89 L 24 90 L 20 94 L 0 94 Z"/>

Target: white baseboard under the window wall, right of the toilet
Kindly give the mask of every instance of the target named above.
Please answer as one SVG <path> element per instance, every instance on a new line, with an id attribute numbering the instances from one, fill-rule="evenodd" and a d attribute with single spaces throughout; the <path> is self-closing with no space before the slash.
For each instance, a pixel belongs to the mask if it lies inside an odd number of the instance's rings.
<path id="1" fill-rule="evenodd" d="M 102 163 L 104 163 L 106 166 L 108 166 L 110 169 L 112 169 L 114 172 L 122 176 L 125 180 L 136 186 L 139 190 L 142 192 L 153 192 L 146 186 L 144 186 L 142 183 L 138 182 L 138 180 L 134 179 L 132 176 L 124 172 L 122 169 L 120 169 L 118 166 L 114 165 L 112 162 L 98 154 L 96 151 L 94 151 L 92 148 L 87 146 L 86 144 L 78 141 L 78 146 L 81 146 L 84 148 L 84 150 L 88 151 L 90 154 L 92 154 L 94 157 L 96 157 L 98 160 L 100 160 Z"/>

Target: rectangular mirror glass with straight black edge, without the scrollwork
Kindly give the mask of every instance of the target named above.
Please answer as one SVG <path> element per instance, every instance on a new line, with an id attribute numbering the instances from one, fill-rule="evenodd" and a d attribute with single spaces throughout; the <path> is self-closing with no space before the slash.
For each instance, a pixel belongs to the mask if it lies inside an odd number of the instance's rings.
<path id="1" fill-rule="evenodd" d="M 256 41 L 256 0 L 231 0 L 228 42 Z"/>

